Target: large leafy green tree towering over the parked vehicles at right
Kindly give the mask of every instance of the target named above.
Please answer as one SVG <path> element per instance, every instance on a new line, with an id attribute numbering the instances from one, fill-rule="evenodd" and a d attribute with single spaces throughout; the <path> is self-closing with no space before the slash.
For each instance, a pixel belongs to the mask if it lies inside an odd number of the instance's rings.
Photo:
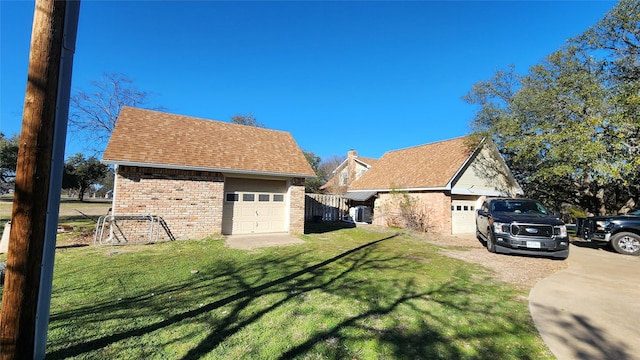
<path id="1" fill-rule="evenodd" d="M 465 96 L 479 105 L 476 133 L 498 145 L 527 196 L 598 214 L 637 199 L 639 19 L 637 3 L 621 1 L 527 74 L 510 67 Z"/>

